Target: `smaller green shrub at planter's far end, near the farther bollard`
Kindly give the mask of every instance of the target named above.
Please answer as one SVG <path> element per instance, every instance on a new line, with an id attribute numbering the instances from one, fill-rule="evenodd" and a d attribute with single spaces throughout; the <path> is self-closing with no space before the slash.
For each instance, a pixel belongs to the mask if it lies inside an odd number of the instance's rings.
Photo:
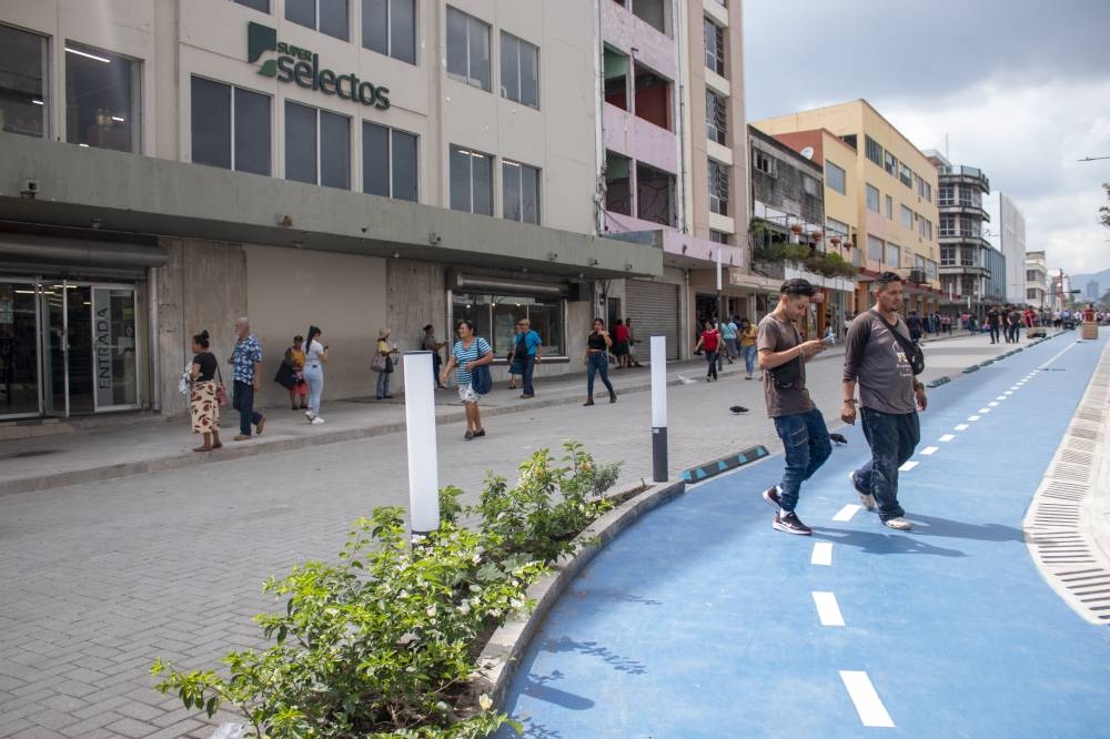
<path id="1" fill-rule="evenodd" d="M 604 495 L 616 483 L 620 464 L 596 464 L 577 442 L 563 448 L 564 466 L 555 467 L 551 451 L 541 449 L 521 465 L 515 487 L 504 477 L 488 477 L 478 505 L 466 509 L 503 543 L 498 556 L 554 561 L 574 554 L 574 537 L 613 508 Z"/>

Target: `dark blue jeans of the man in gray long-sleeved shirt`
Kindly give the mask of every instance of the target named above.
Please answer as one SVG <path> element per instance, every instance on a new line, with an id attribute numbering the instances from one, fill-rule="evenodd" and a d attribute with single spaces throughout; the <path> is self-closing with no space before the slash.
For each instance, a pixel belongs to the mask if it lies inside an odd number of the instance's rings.
<path id="1" fill-rule="evenodd" d="M 914 413 L 881 413 L 860 408 L 864 436 L 871 446 L 871 460 L 856 470 L 856 482 L 870 490 L 879 518 L 890 520 L 905 516 L 898 505 L 898 468 L 914 456 L 921 441 L 921 423 Z"/>

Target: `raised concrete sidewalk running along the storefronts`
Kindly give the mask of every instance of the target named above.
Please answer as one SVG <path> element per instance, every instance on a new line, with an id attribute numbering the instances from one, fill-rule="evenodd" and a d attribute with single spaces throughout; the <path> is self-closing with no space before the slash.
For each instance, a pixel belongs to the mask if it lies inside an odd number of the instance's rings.
<path id="1" fill-rule="evenodd" d="M 947 343 L 950 338 L 953 337 L 934 337 L 926 343 Z M 840 361 L 842 352 L 842 346 L 837 345 L 814 361 Z M 700 382 L 705 370 L 706 363 L 702 357 L 672 362 L 667 365 L 667 382 Z M 743 360 L 737 360 L 735 364 L 725 363 L 720 374 L 723 378 L 743 375 Z M 529 401 L 519 398 L 519 389 L 506 389 L 506 383 L 498 382 L 494 391 L 482 399 L 482 414 L 492 417 L 579 403 L 586 393 L 584 375 L 584 372 L 574 372 L 544 378 L 536 383 L 536 397 Z M 650 389 L 647 364 L 632 370 L 610 367 L 609 379 L 620 395 Z M 604 395 L 601 378 L 596 383 Z M 79 427 L 69 434 L 2 442 L 0 495 L 291 452 L 404 431 L 403 387 L 395 391 L 391 401 L 376 401 L 373 396 L 326 401 L 321 407 L 321 416 L 326 419 L 323 426 L 307 424 L 303 412 L 284 406 L 261 411 L 266 415 L 265 433 L 250 442 L 234 442 L 232 437 L 238 433 L 239 414 L 231 407 L 223 408 L 220 425 L 224 446 L 212 453 L 192 452 L 200 444 L 200 436 L 190 433 L 188 417 L 171 422 L 160 422 L 154 417 L 134 423 L 128 423 L 134 419 L 133 416 L 122 417 L 119 426 Z M 464 423 L 463 408 L 454 388 L 436 392 L 436 421 L 438 425 Z"/>

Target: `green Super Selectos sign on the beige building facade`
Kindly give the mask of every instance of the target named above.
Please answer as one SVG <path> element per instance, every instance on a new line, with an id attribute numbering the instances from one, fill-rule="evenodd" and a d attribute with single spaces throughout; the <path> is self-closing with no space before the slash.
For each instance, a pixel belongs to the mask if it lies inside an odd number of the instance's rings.
<path id="1" fill-rule="evenodd" d="M 360 80 L 356 74 L 336 74 L 320 69 L 320 54 L 307 49 L 278 41 L 278 29 L 251 21 L 246 27 L 246 61 L 254 63 L 268 51 L 276 51 L 278 59 L 262 62 L 259 74 L 274 77 L 282 82 L 294 82 L 306 90 L 320 90 L 344 100 L 356 100 L 364 105 L 385 110 L 390 107 L 389 88 L 375 87 Z"/>

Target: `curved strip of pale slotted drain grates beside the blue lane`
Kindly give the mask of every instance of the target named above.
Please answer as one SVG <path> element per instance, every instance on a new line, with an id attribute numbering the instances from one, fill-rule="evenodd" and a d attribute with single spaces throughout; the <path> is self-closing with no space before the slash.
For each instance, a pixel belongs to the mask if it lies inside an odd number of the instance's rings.
<path id="1" fill-rule="evenodd" d="M 1060 372 L 1042 367 L 1041 372 Z M 1108 422 L 1110 345 L 1026 514 L 1026 546 L 1052 588 L 1091 624 L 1110 625 L 1110 561 L 1082 527 L 1082 503 L 1100 468 Z"/>

